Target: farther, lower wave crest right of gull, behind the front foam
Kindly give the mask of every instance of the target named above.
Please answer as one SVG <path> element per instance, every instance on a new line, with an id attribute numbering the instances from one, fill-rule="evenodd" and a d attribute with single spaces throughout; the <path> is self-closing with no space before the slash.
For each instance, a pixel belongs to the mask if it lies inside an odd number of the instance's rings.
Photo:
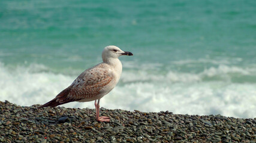
<path id="1" fill-rule="evenodd" d="M 175 70 L 161 72 L 161 70 L 148 70 L 146 66 L 141 69 L 124 71 L 121 81 L 126 82 L 233 82 L 233 83 L 256 83 L 256 67 L 236 67 L 221 64 L 217 67 L 209 67 L 199 73 L 185 73 Z M 145 69 L 143 67 L 146 67 Z M 157 69 L 157 68 L 155 68 Z M 128 77 L 128 78 L 126 78 Z"/>

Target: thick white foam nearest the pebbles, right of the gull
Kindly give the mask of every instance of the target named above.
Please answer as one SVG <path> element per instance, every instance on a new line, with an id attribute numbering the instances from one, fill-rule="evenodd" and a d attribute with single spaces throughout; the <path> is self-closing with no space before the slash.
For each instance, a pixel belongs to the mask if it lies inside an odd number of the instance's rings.
<path id="1" fill-rule="evenodd" d="M 106 108 L 161 111 L 178 114 L 222 114 L 233 117 L 256 116 L 256 84 L 223 82 L 171 85 L 130 83 L 117 86 L 103 98 Z"/>

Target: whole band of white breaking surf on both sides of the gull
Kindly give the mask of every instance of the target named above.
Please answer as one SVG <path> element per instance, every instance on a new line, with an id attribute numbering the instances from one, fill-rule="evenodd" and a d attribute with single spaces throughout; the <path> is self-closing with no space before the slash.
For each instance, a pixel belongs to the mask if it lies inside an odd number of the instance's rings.
<path id="1" fill-rule="evenodd" d="M 124 70 L 118 86 L 101 99 L 105 108 L 161 111 L 177 114 L 223 114 L 224 116 L 256 116 L 256 82 L 206 80 L 206 77 L 233 76 L 234 73 L 254 76 L 254 69 L 219 66 L 200 73 L 168 71 L 157 74 L 146 70 Z M 49 67 L 31 64 L 28 67 L 7 67 L 0 63 L 0 100 L 18 105 L 44 104 L 67 88 L 76 76 L 53 73 Z M 65 107 L 94 108 L 93 102 L 71 102 Z"/>

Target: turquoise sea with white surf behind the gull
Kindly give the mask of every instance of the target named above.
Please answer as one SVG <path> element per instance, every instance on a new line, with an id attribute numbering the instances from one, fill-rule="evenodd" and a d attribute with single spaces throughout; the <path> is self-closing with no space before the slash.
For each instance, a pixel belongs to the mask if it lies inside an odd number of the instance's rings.
<path id="1" fill-rule="evenodd" d="M 108 109 L 256 117 L 256 1 L 0 1 L 0 101 L 44 104 L 116 45 Z M 94 102 L 64 107 L 95 108 Z"/>

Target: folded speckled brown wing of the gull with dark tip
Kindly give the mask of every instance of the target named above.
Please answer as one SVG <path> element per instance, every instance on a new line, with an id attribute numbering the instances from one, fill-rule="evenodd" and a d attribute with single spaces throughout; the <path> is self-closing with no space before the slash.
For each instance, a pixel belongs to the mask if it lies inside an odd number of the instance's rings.
<path id="1" fill-rule="evenodd" d="M 113 76 L 110 69 L 94 67 L 81 73 L 74 82 L 60 92 L 52 101 L 41 107 L 55 107 L 67 102 L 89 99 L 100 94 L 101 89 L 108 85 Z"/>

